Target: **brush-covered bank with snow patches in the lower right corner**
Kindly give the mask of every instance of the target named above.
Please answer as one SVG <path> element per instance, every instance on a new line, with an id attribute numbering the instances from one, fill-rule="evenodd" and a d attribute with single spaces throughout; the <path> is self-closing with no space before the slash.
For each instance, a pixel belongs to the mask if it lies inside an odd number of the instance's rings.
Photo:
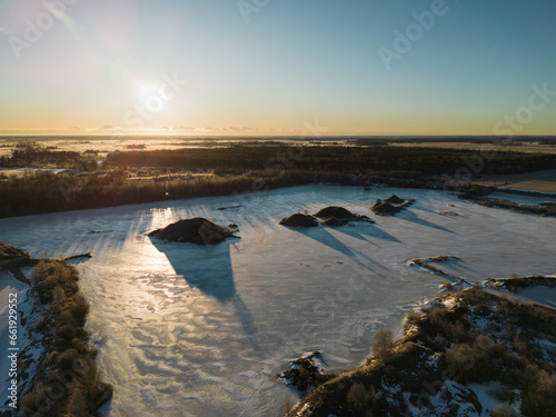
<path id="1" fill-rule="evenodd" d="M 556 309 L 538 300 L 523 304 L 525 301 L 518 297 L 510 298 L 499 289 L 488 287 L 494 281 L 504 284 L 509 280 L 514 284 L 524 284 L 522 289 L 538 288 L 538 282 L 549 285 L 550 288 L 556 287 L 555 277 L 508 278 L 507 280 L 485 281 L 480 287 L 474 286 L 429 299 L 404 320 L 401 338 L 391 339 L 388 346 L 380 350 L 377 348 L 376 337 L 375 355 L 367 359 L 367 364 L 340 374 L 320 371 L 318 366 L 321 358 L 318 358 L 318 353 L 296 359 L 291 363 L 291 370 L 280 374 L 279 377 L 292 377 L 292 379 L 286 379 L 286 383 L 306 387 L 307 396 L 287 411 L 286 416 L 354 415 L 350 413 L 355 413 L 355 416 L 366 416 L 365 413 L 373 410 L 373 415 L 387 413 L 388 415 L 447 417 L 454 413 L 481 416 L 484 411 L 489 415 L 489 411 L 496 413 L 502 409 L 515 413 L 515 415 L 517 413 L 524 413 L 525 416 L 550 415 L 554 411 L 556 397 L 552 396 L 550 399 L 540 400 L 539 404 L 537 395 L 540 394 L 535 391 L 534 378 L 550 378 L 549 374 L 544 370 L 546 368 L 549 371 L 550 366 L 545 367 L 543 364 L 546 355 L 556 357 L 555 345 L 552 344 L 550 347 L 548 341 L 554 337 L 554 332 L 548 329 L 556 325 Z M 553 290 L 552 296 L 554 299 L 550 302 L 556 305 L 556 291 Z M 535 319 L 527 318 L 527 320 L 539 320 L 544 327 L 539 328 L 537 325 L 532 326 L 532 329 L 527 325 L 519 327 L 526 322 L 523 321 L 525 320 L 523 311 L 528 311 L 526 314 L 533 314 L 536 317 Z M 512 317 L 518 317 L 518 320 L 522 320 L 519 322 L 523 324 L 518 322 L 516 327 L 515 321 L 510 321 L 513 325 L 508 324 L 508 328 L 504 328 L 504 322 Z M 487 322 L 483 322 L 484 320 Z M 492 320 L 493 325 L 489 325 L 488 320 Z M 502 334 L 493 329 L 488 330 L 488 326 L 496 327 L 499 324 L 503 324 Z M 438 340 L 437 331 L 446 337 L 444 341 Z M 523 336 L 522 332 L 526 332 L 527 336 Z M 508 336 L 505 336 L 506 334 Z M 514 340 L 510 334 L 517 335 Z M 540 342 L 545 339 L 548 344 L 546 349 Z M 500 340 L 506 340 L 505 342 L 512 346 L 506 348 L 509 349 L 506 353 Z M 479 354 L 481 348 L 478 347 L 480 345 L 477 344 L 487 344 L 488 349 L 502 349 L 496 350 L 496 354 L 493 350 L 488 355 L 502 355 L 508 363 L 520 358 L 519 360 L 533 364 L 527 366 L 536 366 L 537 376 L 524 384 L 502 376 L 499 370 L 495 370 L 496 365 L 492 365 L 494 359 L 489 359 L 490 365 L 485 363 L 479 366 L 478 361 L 483 359 Z M 460 355 L 458 349 L 461 353 L 465 351 L 464 356 L 456 356 Z M 480 367 L 488 366 L 490 369 L 480 369 Z M 517 374 L 525 373 L 525 370 L 519 370 L 523 366 L 518 365 L 516 369 L 508 370 Z M 554 364 L 552 371 L 552 394 L 555 394 L 556 368 Z M 305 375 L 307 379 L 300 375 Z M 488 387 L 499 387 L 499 391 L 514 389 L 518 400 L 513 403 L 502 394 L 493 394 L 495 391 L 489 390 Z M 552 394 L 546 393 L 548 396 Z"/>

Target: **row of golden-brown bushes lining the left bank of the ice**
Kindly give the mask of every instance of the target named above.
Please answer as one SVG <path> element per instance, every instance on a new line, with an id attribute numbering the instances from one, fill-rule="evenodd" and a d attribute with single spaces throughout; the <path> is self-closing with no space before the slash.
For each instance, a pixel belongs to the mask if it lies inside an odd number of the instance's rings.
<path id="1" fill-rule="evenodd" d="M 41 407 L 37 401 L 53 389 L 49 387 L 59 390 L 50 395 L 56 401 L 43 405 L 48 408 L 44 416 L 49 417 L 92 417 L 112 395 L 112 387 L 100 380 L 97 350 L 87 344 L 83 326 L 89 302 L 78 280 L 77 269 L 64 261 L 42 260 L 33 270 L 32 290 L 46 306 L 43 331 L 50 344 L 37 369 L 41 377 L 33 380 L 33 387 L 20 401 L 24 416 L 37 415 L 36 409 Z"/>

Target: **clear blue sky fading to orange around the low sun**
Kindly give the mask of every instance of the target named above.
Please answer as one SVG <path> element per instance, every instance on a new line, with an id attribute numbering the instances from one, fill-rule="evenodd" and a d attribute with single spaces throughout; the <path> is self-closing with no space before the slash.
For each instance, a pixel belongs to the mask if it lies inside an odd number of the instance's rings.
<path id="1" fill-rule="evenodd" d="M 0 133 L 556 135 L 554 0 L 0 0 Z"/>

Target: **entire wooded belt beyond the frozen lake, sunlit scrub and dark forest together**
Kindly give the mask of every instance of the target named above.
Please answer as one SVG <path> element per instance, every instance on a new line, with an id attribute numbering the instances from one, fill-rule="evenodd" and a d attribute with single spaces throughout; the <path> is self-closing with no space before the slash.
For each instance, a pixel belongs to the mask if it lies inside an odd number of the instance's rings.
<path id="1" fill-rule="evenodd" d="M 488 157 L 488 158 L 485 158 Z M 556 168 L 556 155 L 360 147 L 118 151 L 101 169 L 0 181 L 0 217 L 225 196 L 311 182 L 440 187 L 463 167 L 478 177 Z M 159 172 L 137 180 L 139 171 Z M 140 168 L 143 168 L 142 170 Z M 190 177 L 160 175 L 189 171 Z M 133 173 L 136 172 L 136 173 Z M 205 173 L 199 173 L 205 172 Z M 206 173 L 209 172 L 209 173 Z M 129 177 L 135 176 L 135 179 Z M 398 182 L 396 182 L 398 181 Z"/>

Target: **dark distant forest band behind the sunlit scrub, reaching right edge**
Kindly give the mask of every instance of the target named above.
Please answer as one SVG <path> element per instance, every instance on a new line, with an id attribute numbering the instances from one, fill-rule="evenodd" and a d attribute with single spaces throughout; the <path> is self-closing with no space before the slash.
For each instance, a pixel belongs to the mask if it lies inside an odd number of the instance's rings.
<path id="1" fill-rule="evenodd" d="M 110 153 L 113 167 L 167 167 L 214 169 L 215 173 L 237 173 L 262 169 L 297 169 L 342 173 L 406 175 L 454 173 L 470 161 L 479 163 L 480 152 L 455 149 L 397 147 L 242 147 L 219 149 L 180 149 L 119 151 Z M 556 168 L 555 155 L 489 152 L 483 153 L 484 167 L 478 175 L 527 172 Z"/>

